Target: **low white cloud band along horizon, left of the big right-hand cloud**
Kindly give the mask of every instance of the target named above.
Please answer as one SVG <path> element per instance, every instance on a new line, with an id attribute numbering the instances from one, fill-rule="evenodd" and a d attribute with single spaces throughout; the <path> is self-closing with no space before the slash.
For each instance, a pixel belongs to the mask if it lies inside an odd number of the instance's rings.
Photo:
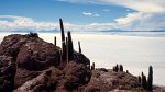
<path id="1" fill-rule="evenodd" d="M 12 21 L 9 21 L 9 19 Z M 114 28 L 113 23 L 91 23 L 86 25 L 78 25 L 65 22 L 64 26 L 66 31 L 84 31 L 84 32 L 105 31 Z M 0 15 L 0 31 L 52 31 L 52 30 L 59 31 L 58 22 L 55 23 L 36 22 L 32 18 Z"/>

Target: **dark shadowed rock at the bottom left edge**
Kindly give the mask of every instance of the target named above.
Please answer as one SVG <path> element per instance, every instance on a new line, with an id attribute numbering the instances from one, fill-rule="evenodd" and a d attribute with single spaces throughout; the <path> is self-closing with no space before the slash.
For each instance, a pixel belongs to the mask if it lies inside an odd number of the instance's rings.
<path id="1" fill-rule="evenodd" d="M 0 92 L 14 89 L 15 64 L 10 56 L 0 56 Z"/>

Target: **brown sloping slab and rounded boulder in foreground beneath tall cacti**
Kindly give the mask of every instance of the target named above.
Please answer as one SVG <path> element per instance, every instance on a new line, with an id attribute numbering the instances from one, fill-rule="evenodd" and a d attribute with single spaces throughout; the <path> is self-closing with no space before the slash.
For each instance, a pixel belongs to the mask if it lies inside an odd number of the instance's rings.
<path id="1" fill-rule="evenodd" d="M 86 65 L 69 61 L 65 69 L 51 67 L 36 78 L 26 81 L 14 92 L 68 92 L 80 91 L 90 80 L 90 70 Z"/>

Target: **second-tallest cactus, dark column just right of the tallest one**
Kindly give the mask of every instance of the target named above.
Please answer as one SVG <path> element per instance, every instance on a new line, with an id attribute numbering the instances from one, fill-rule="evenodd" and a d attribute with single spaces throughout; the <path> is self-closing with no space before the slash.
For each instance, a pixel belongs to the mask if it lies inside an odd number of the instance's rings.
<path id="1" fill-rule="evenodd" d="M 72 39 L 72 33 L 67 32 L 67 51 L 68 51 L 68 61 L 74 60 L 74 46 L 73 46 L 73 39 Z"/>

